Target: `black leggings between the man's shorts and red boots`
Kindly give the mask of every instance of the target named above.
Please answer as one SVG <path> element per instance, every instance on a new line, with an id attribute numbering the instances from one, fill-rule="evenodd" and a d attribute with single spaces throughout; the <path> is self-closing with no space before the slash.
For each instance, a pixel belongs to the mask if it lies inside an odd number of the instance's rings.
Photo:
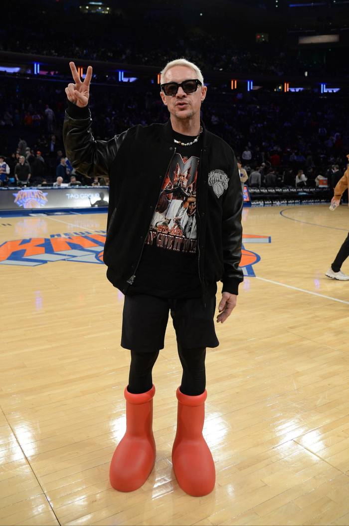
<path id="1" fill-rule="evenodd" d="M 180 391 L 183 395 L 201 395 L 206 388 L 206 347 L 183 349 L 179 343 L 178 355 L 183 368 Z M 131 365 L 127 390 L 138 395 L 152 387 L 152 368 L 159 351 L 137 352 L 131 350 Z"/>

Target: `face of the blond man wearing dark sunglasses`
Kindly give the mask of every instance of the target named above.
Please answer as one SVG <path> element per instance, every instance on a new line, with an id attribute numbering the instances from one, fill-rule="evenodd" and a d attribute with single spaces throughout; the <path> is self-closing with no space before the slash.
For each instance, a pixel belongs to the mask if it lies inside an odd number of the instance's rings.
<path id="1" fill-rule="evenodd" d="M 167 82 L 177 82 L 180 84 L 183 80 L 193 78 L 197 78 L 197 75 L 191 67 L 173 66 L 166 73 L 163 84 Z M 165 95 L 162 91 L 160 92 L 160 96 L 171 115 L 178 119 L 190 119 L 200 112 L 201 103 L 206 97 L 206 92 L 206 86 L 198 86 L 196 92 L 187 95 L 180 86 L 177 94 L 173 97 Z"/>

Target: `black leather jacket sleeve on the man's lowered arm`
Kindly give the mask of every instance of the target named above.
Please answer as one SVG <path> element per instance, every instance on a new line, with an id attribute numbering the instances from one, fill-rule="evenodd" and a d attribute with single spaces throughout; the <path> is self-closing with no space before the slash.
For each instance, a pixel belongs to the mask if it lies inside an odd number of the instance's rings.
<path id="1" fill-rule="evenodd" d="M 231 150 L 232 151 L 232 150 Z M 237 160 L 232 151 L 232 174 L 228 190 L 223 197 L 222 244 L 223 244 L 223 287 L 222 292 L 238 294 L 243 272 L 239 267 L 242 246 L 242 207 L 243 196 Z"/>

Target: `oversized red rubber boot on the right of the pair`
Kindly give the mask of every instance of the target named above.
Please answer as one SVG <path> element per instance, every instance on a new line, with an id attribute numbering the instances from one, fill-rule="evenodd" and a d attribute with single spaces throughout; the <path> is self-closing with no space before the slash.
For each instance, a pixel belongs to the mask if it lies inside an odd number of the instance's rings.
<path id="1" fill-rule="evenodd" d="M 184 395 L 179 387 L 177 432 L 172 447 L 172 465 L 178 484 L 192 497 L 211 493 L 215 468 L 211 451 L 202 436 L 206 389 L 201 395 Z"/>

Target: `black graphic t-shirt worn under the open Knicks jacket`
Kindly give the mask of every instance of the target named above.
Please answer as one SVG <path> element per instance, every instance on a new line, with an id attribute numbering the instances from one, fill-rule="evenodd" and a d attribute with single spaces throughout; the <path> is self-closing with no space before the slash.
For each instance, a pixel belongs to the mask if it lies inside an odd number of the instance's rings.
<path id="1" fill-rule="evenodd" d="M 173 132 L 189 143 L 196 137 Z M 174 144 L 174 143 L 173 143 Z M 163 180 L 135 281 L 127 294 L 163 298 L 199 298 L 196 195 L 202 137 L 191 146 L 176 146 Z"/>

